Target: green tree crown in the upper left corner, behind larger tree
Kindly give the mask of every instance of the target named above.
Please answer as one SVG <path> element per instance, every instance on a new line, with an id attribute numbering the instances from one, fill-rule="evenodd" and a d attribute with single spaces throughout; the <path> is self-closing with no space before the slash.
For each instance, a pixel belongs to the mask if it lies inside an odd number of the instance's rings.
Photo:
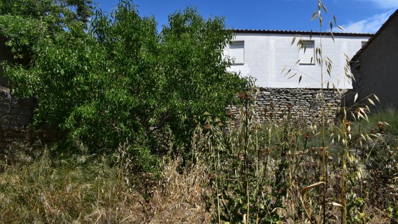
<path id="1" fill-rule="evenodd" d="M 2 0 L 0 33 L 14 58 L 34 57 L 40 38 L 52 38 L 71 23 L 86 25 L 93 15 L 91 0 Z"/>

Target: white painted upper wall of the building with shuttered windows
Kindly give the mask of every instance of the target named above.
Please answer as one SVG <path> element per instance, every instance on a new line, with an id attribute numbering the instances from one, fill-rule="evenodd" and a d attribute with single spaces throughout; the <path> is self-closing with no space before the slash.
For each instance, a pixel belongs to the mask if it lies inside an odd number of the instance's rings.
<path id="1" fill-rule="evenodd" d="M 243 43 L 243 59 L 240 63 L 232 64 L 230 71 L 240 72 L 242 76 L 253 76 L 257 79 L 256 85 L 260 87 L 274 88 L 320 88 L 321 87 L 321 68 L 315 60 L 315 49 L 322 43 L 323 58 L 326 56 L 333 62 L 331 77 L 326 72 L 326 66 L 323 66 L 324 88 L 329 81 L 342 89 L 351 89 L 352 84 L 345 76 L 344 65 L 346 59 L 344 53 L 350 59 L 361 48 L 362 41 L 367 41 L 371 34 L 334 34 L 333 41 L 330 35 L 319 38 L 316 34 L 310 39 L 309 32 L 292 31 L 235 31 L 234 41 Z M 296 42 L 291 45 L 293 37 L 296 36 Z M 310 64 L 296 64 L 302 57 L 297 41 L 313 41 L 314 59 Z M 230 50 L 231 48 L 231 50 Z M 233 47 L 227 46 L 224 49 L 224 55 L 230 56 L 236 52 Z M 308 54 L 308 51 L 306 49 Z M 304 59 L 303 59 L 304 60 Z M 308 60 L 308 58 L 307 58 Z M 243 63 L 242 63 L 243 61 Z M 283 67 L 285 71 L 281 73 Z M 291 72 L 284 76 L 291 69 Z M 297 75 L 288 79 L 291 75 Z M 299 77 L 302 79 L 299 83 Z"/>

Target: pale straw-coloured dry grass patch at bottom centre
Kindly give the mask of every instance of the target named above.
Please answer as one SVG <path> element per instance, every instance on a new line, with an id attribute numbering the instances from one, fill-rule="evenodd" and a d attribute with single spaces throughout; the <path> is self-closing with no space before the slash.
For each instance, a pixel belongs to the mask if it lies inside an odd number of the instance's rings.
<path id="1" fill-rule="evenodd" d="M 179 174 L 180 159 L 163 163 L 162 180 L 148 205 L 150 223 L 210 223 L 203 195 L 211 194 L 207 167 L 197 164 Z"/>

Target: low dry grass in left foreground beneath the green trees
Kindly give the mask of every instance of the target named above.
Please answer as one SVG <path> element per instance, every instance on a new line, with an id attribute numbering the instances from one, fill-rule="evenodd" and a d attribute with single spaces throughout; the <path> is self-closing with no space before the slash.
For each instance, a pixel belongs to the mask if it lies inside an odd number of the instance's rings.
<path id="1" fill-rule="evenodd" d="M 0 173 L 0 223 L 210 223 L 201 198 L 209 194 L 206 169 L 199 164 L 179 173 L 180 159 L 163 162 L 154 182 L 150 174 L 110 167 L 104 156 L 77 161 L 57 161 L 45 151 L 7 165 Z"/>

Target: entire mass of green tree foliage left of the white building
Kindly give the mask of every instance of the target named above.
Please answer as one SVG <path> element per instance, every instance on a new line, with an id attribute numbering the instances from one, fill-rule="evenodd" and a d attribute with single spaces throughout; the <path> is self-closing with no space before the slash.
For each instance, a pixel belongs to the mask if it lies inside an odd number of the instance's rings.
<path id="1" fill-rule="evenodd" d="M 226 71 L 230 61 L 222 50 L 233 34 L 222 18 L 205 20 L 187 8 L 170 15 L 158 33 L 155 19 L 140 17 L 130 1 L 109 15 L 97 11 L 89 25 L 88 0 L 43 0 L 55 11 L 47 7 L 39 15 L 16 15 L 10 2 L 1 5 L 1 34 L 11 49 L 26 46 L 32 56 L 29 67 L 6 66 L 15 93 L 38 97 L 35 126 L 57 124 L 93 150 L 126 140 L 152 152 L 170 140 L 174 149 L 189 146 L 202 115 L 224 118 L 245 87 Z M 46 18 L 58 9 L 72 16 Z"/>

